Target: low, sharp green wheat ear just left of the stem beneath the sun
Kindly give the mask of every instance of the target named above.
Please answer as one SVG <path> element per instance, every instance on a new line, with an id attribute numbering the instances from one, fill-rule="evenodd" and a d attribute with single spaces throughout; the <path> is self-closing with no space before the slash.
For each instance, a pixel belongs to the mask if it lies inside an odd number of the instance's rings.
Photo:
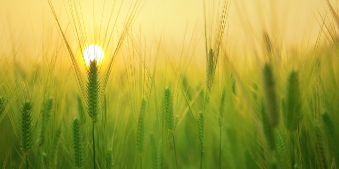
<path id="1" fill-rule="evenodd" d="M 73 146 L 73 160 L 74 165 L 78 168 L 82 166 L 83 162 L 83 145 L 82 134 L 80 130 L 80 123 L 78 118 L 74 118 L 72 122 L 72 146 Z"/>

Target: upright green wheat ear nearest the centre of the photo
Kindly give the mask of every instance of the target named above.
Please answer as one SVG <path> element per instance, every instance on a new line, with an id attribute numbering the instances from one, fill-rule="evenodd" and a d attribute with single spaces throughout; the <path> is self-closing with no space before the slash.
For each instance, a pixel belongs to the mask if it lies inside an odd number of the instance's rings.
<path id="1" fill-rule="evenodd" d="M 165 121 L 166 126 L 170 129 L 174 129 L 174 108 L 173 108 L 173 96 L 172 90 L 170 87 L 166 87 L 163 94 L 164 100 L 164 114 L 165 114 Z"/>

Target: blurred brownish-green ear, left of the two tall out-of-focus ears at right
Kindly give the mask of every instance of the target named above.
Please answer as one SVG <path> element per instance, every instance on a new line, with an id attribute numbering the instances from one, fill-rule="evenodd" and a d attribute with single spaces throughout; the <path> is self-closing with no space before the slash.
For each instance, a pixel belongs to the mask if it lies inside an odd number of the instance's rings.
<path id="1" fill-rule="evenodd" d="M 277 106 L 276 83 L 273 76 L 271 66 L 266 63 L 263 69 L 263 85 L 265 105 L 268 117 L 272 127 L 276 127 L 279 123 L 279 112 Z"/>

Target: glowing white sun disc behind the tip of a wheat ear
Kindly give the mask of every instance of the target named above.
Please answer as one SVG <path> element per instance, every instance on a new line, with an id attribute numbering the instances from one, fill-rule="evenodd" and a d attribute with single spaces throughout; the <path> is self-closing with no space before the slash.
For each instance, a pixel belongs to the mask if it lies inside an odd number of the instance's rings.
<path id="1" fill-rule="evenodd" d="M 104 51 L 99 45 L 92 44 L 85 48 L 84 58 L 87 65 L 90 65 L 92 60 L 96 60 L 96 63 L 99 64 L 104 58 Z"/>

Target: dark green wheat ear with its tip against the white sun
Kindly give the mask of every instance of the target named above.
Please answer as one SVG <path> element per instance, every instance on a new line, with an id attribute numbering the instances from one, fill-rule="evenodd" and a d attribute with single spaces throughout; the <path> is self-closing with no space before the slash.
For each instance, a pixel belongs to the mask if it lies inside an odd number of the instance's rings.
<path id="1" fill-rule="evenodd" d="M 90 70 L 88 71 L 87 82 L 87 112 L 95 121 L 99 111 L 99 80 L 98 80 L 98 67 L 95 59 L 90 63 Z"/>

